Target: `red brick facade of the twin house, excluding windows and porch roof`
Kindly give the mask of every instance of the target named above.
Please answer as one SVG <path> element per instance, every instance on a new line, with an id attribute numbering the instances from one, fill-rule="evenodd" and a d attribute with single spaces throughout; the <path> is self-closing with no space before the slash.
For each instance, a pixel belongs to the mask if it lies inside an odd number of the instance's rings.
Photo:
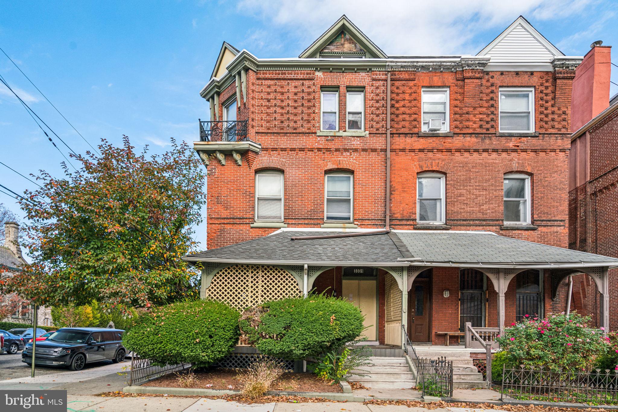
<path id="1" fill-rule="evenodd" d="M 509 49 L 513 33 L 527 36 L 528 51 Z M 201 96 L 211 103 L 211 120 L 225 120 L 226 104 L 236 96 L 236 119 L 247 120 L 248 138 L 259 146 L 239 143 L 234 151 L 226 151 L 222 145 L 195 143 L 208 168 L 208 248 L 263 237 L 281 227 L 383 228 L 387 116 L 391 117 L 391 229 L 491 230 L 567 247 L 571 88 L 580 61 L 581 57 L 564 56 L 522 17 L 476 56 L 386 56 L 345 17 L 298 59 L 260 60 L 224 43 L 214 77 Z M 421 131 L 423 88 L 448 90 L 446 131 Z M 501 132 L 501 90 L 520 88 L 533 91 L 533 128 Z M 324 90 L 339 92 L 336 131 L 321 130 Z M 358 90 L 364 91 L 360 132 L 346 128 L 347 93 Z M 222 138 L 213 132 L 210 140 Z M 284 175 L 281 222 L 256 221 L 256 173 L 263 170 Z M 353 174 L 353 219 L 345 224 L 324 219 L 324 176 L 333 171 Z M 444 176 L 441 224 L 417 222 L 417 175 L 423 172 Z M 530 179 L 528 224 L 504 222 L 506 174 Z M 552 285 L 550 272 L 544 270 L 539 281 L 541 313 L 565 309 L 567 280 Z M 389 274 L 379 270 L 381 343 L 384 276 Z M 444 342 L 436 331 L 460 329 L 459 277 L 455 267 L 434 268 L 431 274 L 434 343 Z M 516 282 L 514 278 L 506 293 L 507 324 L 515 321 Z M 497 293 L 489 282 L 485 284 L 483 324 L 495 327 Z M 314 286 L 317 292 L 341 295 L 342 268 L 324 272 Z M 448 297 L 444 290 L 450 291 Z"/>

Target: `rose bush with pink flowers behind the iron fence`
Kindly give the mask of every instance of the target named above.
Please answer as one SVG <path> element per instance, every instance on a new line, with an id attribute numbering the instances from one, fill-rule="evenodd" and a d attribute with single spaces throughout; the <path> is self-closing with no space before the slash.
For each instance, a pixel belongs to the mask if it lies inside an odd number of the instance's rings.
<path id="1" fill-rule="evenodd" d="M 549 314 L 544 319 L 526 316 L 497 338 L 507 353 L 507 368 L 544 366 L 551 371 L 589 372 L 610 346 L 599 330 L 588 327 L 590 317 L 577 313 Z"/>

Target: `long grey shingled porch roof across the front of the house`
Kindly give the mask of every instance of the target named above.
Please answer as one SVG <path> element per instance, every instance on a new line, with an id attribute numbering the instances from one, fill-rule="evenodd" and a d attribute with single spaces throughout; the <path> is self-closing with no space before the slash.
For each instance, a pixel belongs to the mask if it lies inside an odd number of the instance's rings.
<path id="1" fill-rule="evenodd" d="M 376 229 L 371 229 L 375 231 Z M 190 262 L 320 266 L 592 267 L 618 259 L 528 242 L 485 231 L 391 230 L 354 237 L 337 230 L 281 229 L 265 237 L 190 254 Z M 346 230 L 363 233 L 363 230 Z"/>

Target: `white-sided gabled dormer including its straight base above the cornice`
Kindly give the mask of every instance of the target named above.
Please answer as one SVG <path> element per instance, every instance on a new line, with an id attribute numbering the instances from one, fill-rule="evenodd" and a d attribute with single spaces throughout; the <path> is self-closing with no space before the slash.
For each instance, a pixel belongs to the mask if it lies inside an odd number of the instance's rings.
<path id="1" fill-rule="evenodd" d="M 519 16 L 476 56 L 491 58 L 485 70 L 553 70 L 564 53 Z"/>

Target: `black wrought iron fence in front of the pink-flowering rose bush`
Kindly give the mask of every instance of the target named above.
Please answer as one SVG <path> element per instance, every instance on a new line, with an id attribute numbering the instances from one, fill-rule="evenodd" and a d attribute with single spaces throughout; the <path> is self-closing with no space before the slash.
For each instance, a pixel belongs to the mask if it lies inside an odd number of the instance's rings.
<path id="1" fill-rule="evenodd" d="M 503 368 L 501 398 L 566 401 L 596 405 L 618 403 L 618 371 L 552 372 Z"/>

